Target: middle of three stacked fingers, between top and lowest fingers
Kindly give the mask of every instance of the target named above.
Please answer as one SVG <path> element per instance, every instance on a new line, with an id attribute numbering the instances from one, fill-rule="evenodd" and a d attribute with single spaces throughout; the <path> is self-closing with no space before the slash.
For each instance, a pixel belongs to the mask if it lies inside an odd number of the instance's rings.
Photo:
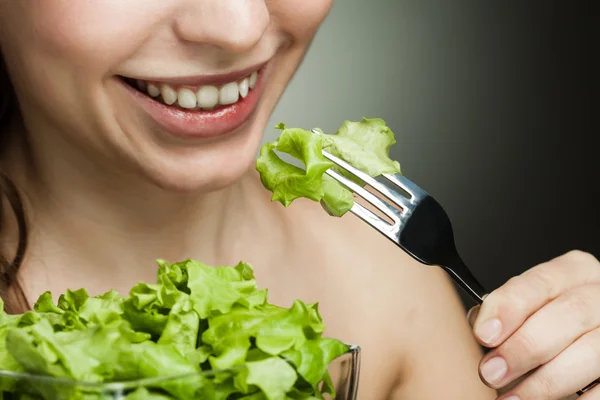
<path id="1" fill-rule="evenodd" d="M 574 289 L 553 300 L 484 357 L 481 377 L 489 386 L 501 388 L 548 363 L 582 335 L 600 327 L 599 306 L 600 284 Z M 498 368 L 501 361 L 506 364 L 503 376 Z"/>

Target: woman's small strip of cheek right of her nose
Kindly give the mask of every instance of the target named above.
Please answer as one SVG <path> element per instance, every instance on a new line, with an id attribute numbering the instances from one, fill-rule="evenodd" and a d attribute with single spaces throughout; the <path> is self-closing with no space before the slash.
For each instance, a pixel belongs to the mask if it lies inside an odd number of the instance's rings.
<path id="1" fill-rule="evenodd" d="M 267 4 L 280 30 L 296 40 L 311 40 L 333 0 L 267 0 Z"/>

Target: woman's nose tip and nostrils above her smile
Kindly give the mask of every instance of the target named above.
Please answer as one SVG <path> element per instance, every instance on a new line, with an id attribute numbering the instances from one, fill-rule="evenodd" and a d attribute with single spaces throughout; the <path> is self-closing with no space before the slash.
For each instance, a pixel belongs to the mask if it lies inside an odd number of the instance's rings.
<path id="1" fill-rule="evenodd" d="M 187 0 L 175 32 L 185 41 L 244 52 L 260 41 L 269 20 L 264 0 Z"/>

